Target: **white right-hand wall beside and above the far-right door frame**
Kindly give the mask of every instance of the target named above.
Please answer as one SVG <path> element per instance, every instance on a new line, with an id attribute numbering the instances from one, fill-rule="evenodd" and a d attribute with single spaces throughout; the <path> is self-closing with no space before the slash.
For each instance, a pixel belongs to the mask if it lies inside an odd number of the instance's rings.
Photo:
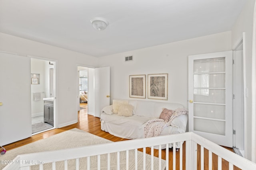
<path id="1" fill-rule="evenodd" d="M 246 137 L 245 137 L 245 158 L 252 160 L 252 25 L 255 0 L 248 0 L 240 13 L 234 27 L 232 28 L 232 48 L 242 38 L 242 33 L 245 32 L 245 69 L 246 69 L 246 88 L 248 88 L 248 98 L 246 98 Z M 254 134 L 255 135 L 255 134 Z"/>

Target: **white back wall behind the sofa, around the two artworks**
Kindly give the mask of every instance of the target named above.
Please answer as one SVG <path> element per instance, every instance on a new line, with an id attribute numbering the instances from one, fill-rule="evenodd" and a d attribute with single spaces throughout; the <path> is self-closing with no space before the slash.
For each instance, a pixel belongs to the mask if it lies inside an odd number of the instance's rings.
<path id="1" fill-rule="evenodd" d="M 111 100 L 129 99 L 129 75 L 168 73 L 168 101 L 161 101 L 187 107 L 188 55 L 228 50 L 231 31 L 100 57 L 100 67 L 110 66 Z M 124 62 L 128 55 L 133 61 Z"/>

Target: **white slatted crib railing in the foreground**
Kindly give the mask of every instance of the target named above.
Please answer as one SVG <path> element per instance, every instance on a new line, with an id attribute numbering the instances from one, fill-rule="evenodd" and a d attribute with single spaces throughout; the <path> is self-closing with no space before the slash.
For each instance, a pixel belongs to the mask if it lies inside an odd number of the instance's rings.
<path id="1" fill-rule="evenodd" d="M 146 169 L 146 147 L 151 148 L 151 169 L 153 169 L 153 154 L 154 154 L 154 146 L 159 146 L 158 152 L 158 169 L 162 167 L 162 150 L 161 145 L 166 145 L 166 169 L 180 169 L 182 170 L 183 167 L 183 148 L 180 145 L 179 149 L 179 166 L 176 167 L 176 152 L 173 152 L 173 160 L 172 163 L 169 162 L 169 149 L 170 143 L 174 146 L 173 150 L 175 150 L 175 144 L 180 142 L 183 143 L 186 141 L 186 148 L 185 148 L 185 166 L 186 170 L 195 170 L 198 169 L 197 165 L 197 154 L 200 154 L 200 167 L 201 170 L 204 168 L 204 148 L 209 151 L 209 170 L 212 170 L 212 164 L 216 162 L 212 162 L 212 154 L 216 154 L 218 156 L 218 170 L 222 169 L 222 159 L 228 162 L 229 170 L 233 170 L 233 165 L 242 169 L 242 170 L 256 170 L 256 164 L 253 162 L 227 150 L 199 135 L 196 135 L 192 132 L 182 133 L 182 134 L 175 134 L 175 135 L 166 135 L 166 136 L 159 136 L 159 137 L 152 137 L 152 138 L 145 138 L 145 139 L 135 139 L 129 141 L 121 141 L 121 142 L 114 142 L 114 143 L 106 143 L 100 145 L 92 145 L 86 147 L 79 147 L 74 149 L 65 149 L 65 150 L 53 150 L 47 152 L 39 152 L 39 153 L 32 153 L 32 154 L 23 154 L 18 155 L 13 161 L 12 164 L 8 164 L 4 170 L 30 170 L 30 166 L 35 164 L 39 164 L 39 169 L 43 169 L 43 164 L 51 163 L 52 169 L 56 169 L 56 162 L 64 161 L 64 169 L 68 169 L 68 160 L 75 160 L 75 167 L 74 169 L 79 170 L 79 160 L 80 158 L 87 157 L 87 169 L 90 170 L 90 158 L 92 156 L 96 156 L 98 160 L 104 154 L 107 155 L 107 165 L 105 169 L 110 170 L 110 153 L 116 153 L 117 155 L 117 167 L 116 169 L 120 169 L 120 152 L 126 151 L 126 169 L 129 169 L 129 150 L 135 150 L 135 160 L 134 160 L 134 169 L 138 169 L 138 154 L 137 150 L 143 148 L 143 169 Z M 200 145 L 201 149 L 198 152 L 198 145 Z M 101 169 L 100 161 L 97 161 L 97 169 Z"/>

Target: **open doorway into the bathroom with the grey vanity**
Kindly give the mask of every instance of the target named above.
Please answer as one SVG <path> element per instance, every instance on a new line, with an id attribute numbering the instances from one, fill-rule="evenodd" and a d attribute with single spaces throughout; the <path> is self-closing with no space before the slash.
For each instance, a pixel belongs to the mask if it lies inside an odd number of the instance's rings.
<path id="1" fill-rule="evenodd" d="M 32 135 L 54 128 L 55 62 L 31 58 Z"/>

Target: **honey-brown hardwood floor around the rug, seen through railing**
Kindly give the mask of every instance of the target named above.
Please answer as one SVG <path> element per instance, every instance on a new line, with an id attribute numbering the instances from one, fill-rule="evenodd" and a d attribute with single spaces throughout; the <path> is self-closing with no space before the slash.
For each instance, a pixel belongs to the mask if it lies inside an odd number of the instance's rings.
<path id="1" fill-rule="evenodd" d="M 110 135 L 109 133 L 107 133 L 105 131 L 102 131 L 100 129 L 100 119 L 98 117 L 94 117 L 92 115 L 87 114 L 87 110 L 88 110 L 87 103 L 80 104 L 80 107 L 84 107 L 85 109 L 81 109 L 80 111 L 78 111 L 78 123 L 75 123 L 73 125 L 69 125 L 69 126 L 66 126 L 66 127 L 58 128 L 58 129 L 53 129 L 53 130 L 46 131 L 46 132 L 43 132 L 43 133 L 39 133 L 37 135 L 33 135 L 32 137 L 29 137 L 27 139 L 17 141 L 15 143 L 11 143 L 9 145 L 5 145 L 4 148 L 8 152 L 8 150 L 11 150 L 11 149 L 14 149 L 14 148 L 17 148 L 17 147 L 35 142 L 35 141 L 38 141 L 40 139 L 48 138 L 50 136 L 53 136 L 55 134 L 58 134 L 58 133 L 61 133 L 61 132 L 64 132 L 64 131 L 67 131 L 67 130 L 70 130 L 70 129 L 73 129 L 73 128 L 81 129 L 83 131 L 86 131 L 88 133 L 92 133 L 94 135 L 97 135 L 99 137 L 108 139 L 108 140 L 113 141 L 113 142 L 129 140 L 129 139 L 123 139 L 123 138 L 120 138 L 120 137 L 115 137 L 115 136 Z M 186 145 L 186 143 L 184 142 L 183 148 L 185 148 L 185 145 Z M 233 151 L 231 148 L 226 148 L 226 149 Z M 140 151 L 142 151 L 142 149 Z M 200 152 L 200 146 L 198 146 L 198 152 Z M 146 149 L 146 153 L 150 154 L 150 149 L 149 148 Z M 186 161 L 185 149 L 183 149 L 182 154 L 183 154 L 183 163 L 182 163 L 183 168 L 182 169 L 184 170 L 185 169 L 185 161 Z M 208 170 L 208 150 L 206 150 L 206 149 L 204 150 L 204 155 L 205 155 L 204 170 Z M 156 149 L 154 150 L 154 156 L 158 156 L 158 150 L 156 150 Z M 180 157 L 180 151 L 176 152 L 176 169 L 177 170 L 179 170 L 179 167 L 180 167 L 179 157 Z M 164 159 L 164 160 L 166 159 L 166 150 L 165 149 L 162 150 L 162 159 Z M 212 155 L 212 160 L 213 160 L 212 170 L 217 170 L 218 169 L 218 164 L 217 164 L 218 156 L 213 154 Z M 169 169 L 172 170 L 172 168 L 171 168 L 172 167 L 172 150 L 171 149 L 169 149 L 169 162 L 170 162 L 170 168 Z M 198 170 L 200 170 L 200 158 L 199 158 L 199 156 L 198 156 L 197 164 L 198 164 Z M 222 170 L 228 170 L 228 162 L 226 162 L 223 159 L 222 159 Z M 239 170 L 239 168 L 234 167 L 234 170 Z"/>

